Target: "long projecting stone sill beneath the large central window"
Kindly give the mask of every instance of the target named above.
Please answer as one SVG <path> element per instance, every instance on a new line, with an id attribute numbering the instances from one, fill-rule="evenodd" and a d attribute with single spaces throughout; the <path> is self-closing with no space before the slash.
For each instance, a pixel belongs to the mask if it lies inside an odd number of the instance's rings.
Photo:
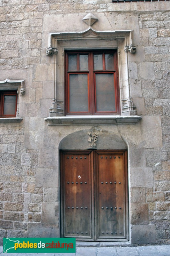
<path id="1" fill-rule="evenodd" d="M 54 116 L 46 117 L 48 125 L 88 125 L 88 124 L 136 124 L 141 116 Z"/>

